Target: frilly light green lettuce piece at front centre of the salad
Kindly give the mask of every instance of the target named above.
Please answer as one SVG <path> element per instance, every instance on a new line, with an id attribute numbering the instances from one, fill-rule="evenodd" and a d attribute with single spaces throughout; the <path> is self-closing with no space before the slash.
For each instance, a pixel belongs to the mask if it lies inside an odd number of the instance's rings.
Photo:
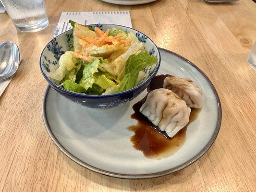
<path id="1" fill-rule="evenodd" d="M 81 78 L 79 84 L 87 90 L 89 87 L 92 87 L 94 83 L 93 75 L 98 72 L 99 59 L 93 58 L 93 62 L 89 63 L 84 61 L 83 77 Z"/>

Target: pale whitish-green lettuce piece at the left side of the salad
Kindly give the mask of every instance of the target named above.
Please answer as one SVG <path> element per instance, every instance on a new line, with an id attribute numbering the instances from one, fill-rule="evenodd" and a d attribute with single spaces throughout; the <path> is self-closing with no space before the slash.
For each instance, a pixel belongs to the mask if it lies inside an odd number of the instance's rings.
<path id="1" fill-rule="evenodd" d="M 49 77 L 61 81 L 65 75 L 75 67 L 77 62 L 78 60 L 73 57 L 72 51 L 66 51 L 61 55 L 59 68 L 55 72 L 50 72 Z"/>

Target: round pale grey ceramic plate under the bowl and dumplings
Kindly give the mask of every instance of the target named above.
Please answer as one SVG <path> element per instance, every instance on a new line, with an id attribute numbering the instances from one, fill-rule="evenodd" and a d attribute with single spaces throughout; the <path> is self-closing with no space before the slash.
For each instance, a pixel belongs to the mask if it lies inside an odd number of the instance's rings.
<path id="1" fill-rule="evenodd" d="M 186 141 L 172 156 L 161 160 L 146 158 L 130 141 L 135 125 L 131 119 L 133 105 L 146 90 L 132 101 L 110 109 L 85 108 L 47 87 L 42 114 L 49 136 L 57 147 L 76 163 L 98 173 L 129 179 L 153 178 L 183 169 L 204 155 L 213 144 L 221 123 L 219 96 L 207 78 L 194 64 L 181 56 L 160 49 L 158 74 L 188 77 L 204 91 L 203 107 L 189 124 Z"/>

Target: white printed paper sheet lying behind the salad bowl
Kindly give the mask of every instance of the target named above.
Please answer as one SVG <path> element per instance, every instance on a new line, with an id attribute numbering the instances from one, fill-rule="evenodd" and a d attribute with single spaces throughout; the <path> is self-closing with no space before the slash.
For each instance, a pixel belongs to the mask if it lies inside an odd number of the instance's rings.
<path id="1" fill-rule="evenodd" d="M 69 20 L 79 24 L 120 24 L 133 27 L 130 12 L 61 12 L 60 20 L 54 32 L 58 36 L 72 28 Z"/>

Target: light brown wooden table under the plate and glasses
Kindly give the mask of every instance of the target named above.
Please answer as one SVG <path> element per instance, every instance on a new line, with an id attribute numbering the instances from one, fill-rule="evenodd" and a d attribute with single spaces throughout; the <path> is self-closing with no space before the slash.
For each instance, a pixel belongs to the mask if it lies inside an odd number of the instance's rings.
<path id="1" fill-rule="evenodd" d="M 21 51 L 17 74 L 0 97 L 0 191 L 3 192 L 255 192 L 256 72 L 246 57 L 256 41 L 256 3 L 207 4 L 204 0 L 158 0 L 120 6 L 100 0 L 46 0 L 49 27 L 17 33 L 0 14 L 0 42 Z M 53 36 L 61 12 L 129 10 L 135 29 L 162 48 L 194 62 L 216 87 L 222 125 L 210 150 L 177 173 L 148 180 L 110 178 L 63 155 L 41 117 L 47 82 L 39 56 Z"/>

